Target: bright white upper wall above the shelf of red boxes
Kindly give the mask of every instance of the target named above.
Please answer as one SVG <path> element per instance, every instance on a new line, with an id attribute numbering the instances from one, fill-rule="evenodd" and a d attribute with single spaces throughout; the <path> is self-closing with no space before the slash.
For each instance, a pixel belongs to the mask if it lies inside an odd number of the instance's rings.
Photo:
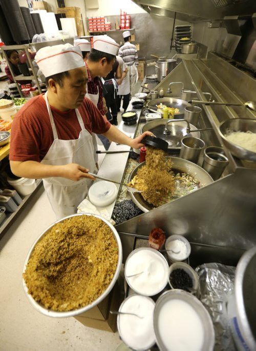
<path id="1" fill-rule="evenodd" d="M 99 8 L 98 9 L 87 9 L 87 17 L 93 16 L 111 16 L 111 15 L 119 15 L 120 9 L 131 13 L 145 13 L 146 11 L 142 10 L 138 5 L 132 2 L 132 0 L 98 0 Z M 84 0 L 86 3 L 86 0 Z M 74 1 L 75 3 L 75 1 Z"/>

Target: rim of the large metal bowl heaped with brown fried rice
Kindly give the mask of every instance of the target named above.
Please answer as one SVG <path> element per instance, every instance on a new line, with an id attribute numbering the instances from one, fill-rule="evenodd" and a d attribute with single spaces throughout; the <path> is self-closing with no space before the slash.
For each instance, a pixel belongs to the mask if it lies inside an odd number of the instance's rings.
<path id="1" fill-rule="evenodd" d="M 114 277 L 112 278 L 112 281 L 111 281 L 110 285 L 106 288 L 106 290 L 95 301 L 93 301 L 89 305 L 83 306 L 81 308 L 77 308 L 77 309 L 74 309 L 74 310 L 71 310 L 71 311 L 65 311 L 65 312 L 57 312 L 57 311 L 53 311 L 53 310 L 47 309 L 43 305 L 41 305 L 40 303 L 35 301 L 33 299 L 33 297 L 30 294 L 28 294 L 28 288 L 27 288 L 27 285 L 26 285 L 26 283 L 25 283 L 25 281 L 23 279 L 23 287 L 24 287 L 25 293 L 26 293 L 29 301 L 31 302 L 32 306 L 34 306 L 35 309 L 37 311 L 39 311 L 40 313 L 42 313 L 43 315 L 46 315 L 46 316 L 49 316 L 49 317 L 66 318 L 66 317 L 74 317 L 74 316 L 80 315 L 80 314 L 88 311 L 89 309 L 91 309 L 94 306 L 96 306 L 99 302 L 101 302 L 106 296 L 109 295 L 110 291 L 114 287 L 115 282 L 116 282 L 116 280 L 117 280 L 117 278 L 119 276 L 119 272 L 120 272 L 121 264 L 122 264 L 122 244 L 121 244 L 121 240 L 120 240 L 120 237 L 118 235 L 118 232 L 113 227 L 113 225 L 110 224 L 108 221 L 106 221 L 103 217 L 97 216 L 96 214 L 84 213 L 84 212 L 77 213 L 77 214 L 72 214 L 71 216 L 67 216 L 65 218 L 62 218 L 61 220 L 56 221 L 55 223 L 50 225 L 36 239 L 36 241 L 34 242 L 34 244 L 31 247 L 31 249 L 29 250 L 28 256 L 27 256 L 27 258 L 25 260 L 23 272 L 25 272 L 25 270 L 26 270 L 27 263 L 28 263 L 28 261 L 29 261 L 29 259 L 31 257 L 31 254 L 32 254 L 32 252 L 33 252 L 33 250 L 35 248 L 35 245 L 47 234 L 49 229 L 51 229 L 56 223 L 61 222 L 61 221 L 65 220 L 65 219 L 67 219 L 67 218 L 76 217 L 76 216 L 84 216 L 84 215 L 86 215 L 86 216 L 93 216 L 93 217 L 101 219 L 103 222 L 105 222 L 110 227 L 110 229 L 113 232 L 113 235 L 115 237 L 115 240 L 116 240 L 116 243 L 117 243 L 117 246 L 118 246 L 118 261 L 117 261 L 117 267 L 116 267 L 116 271 L 115 271 Z"/>

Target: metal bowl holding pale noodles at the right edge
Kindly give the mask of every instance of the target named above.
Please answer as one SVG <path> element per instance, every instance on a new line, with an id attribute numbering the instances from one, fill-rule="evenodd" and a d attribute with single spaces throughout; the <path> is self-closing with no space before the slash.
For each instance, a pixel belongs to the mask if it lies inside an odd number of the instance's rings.
<path id="1" fill-rule="evenodd" d="M 256 152 L 247 150 L 237 144 L 231 143 L 226 138 L 226 134 L 231 131 L 251 131 L 256 133 L 256 120 L 244 119 L 244 118 L 234 118 L 226 120 L 220 124 L 219 131 L 224 145 L 228 148 L 233 156 L 236 156 L 242 160 L 254 161 L 256 162 Z"/>

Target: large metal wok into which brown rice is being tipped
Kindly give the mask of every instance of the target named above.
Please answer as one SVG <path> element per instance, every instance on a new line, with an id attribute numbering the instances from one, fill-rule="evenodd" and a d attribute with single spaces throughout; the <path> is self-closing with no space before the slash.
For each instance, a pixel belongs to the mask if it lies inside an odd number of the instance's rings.
<path id="1" fill-rule="evenodd" d="M 202 186 L 208 185 L 213 182 L 210 175 L 201 167 L 196 165 L 193 162 L 180 159 L 178 157 L 167 157 L 172 160 L 172 170 L 174 173 L 187 173 L 193 175 L 193 177 L 198 180 Z M 140 163 L 134 170 L 130 173 L 128 177 L 128 183 L 132 181 L 132 179 L 137 174 L 138 170 L 145 164 L 145 162 Z M 196 190 L 196 189 L 195 189 Z M 143 212 L 148 212 L 154 209 L 154 205 L 145 201 L 139 192 L 131 192 L 130 196 L 135 203 Z"/>

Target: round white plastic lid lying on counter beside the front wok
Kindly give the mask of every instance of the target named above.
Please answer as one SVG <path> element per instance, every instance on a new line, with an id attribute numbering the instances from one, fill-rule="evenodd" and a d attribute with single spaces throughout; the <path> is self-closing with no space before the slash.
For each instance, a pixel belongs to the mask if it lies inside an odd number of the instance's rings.
<path id="1" fill-rule="evenodd" d="M 108 206 L 117 197 L 117 187 L 107 181 L 95 182 L 88 192 L 91 203 L 95 206 Z"/>

